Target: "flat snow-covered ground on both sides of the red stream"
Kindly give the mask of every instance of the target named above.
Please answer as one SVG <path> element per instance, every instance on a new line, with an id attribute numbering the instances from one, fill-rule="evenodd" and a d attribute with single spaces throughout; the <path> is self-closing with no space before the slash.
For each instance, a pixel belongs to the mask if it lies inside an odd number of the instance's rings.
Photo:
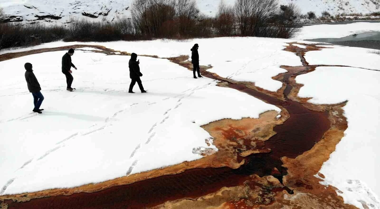
<path id="1" fill-rule="evenodd" d="M 271 77 L 284 72 L 279 66 L 301 65 L 295 54 L 282 51 L 287 46 L 286 42 L 293 41 L 244 37 L 86 44 L 137 54 L 175 57 L 190 55 L 190 48 L 198 43 L 200 64 L 212 65 L 210 71 L 238 81 L 253 81 L 257 86 L 275 91 L 281 83 Z M 28 49 L 72 44 L 83 43 L 54 42 Z M 0 54 L 28 49 L 1 51 Z M 125 66 L 128 57 L 77 51 L 73 57 L 78 67 L 78 71 L 74 71 L 73 86 L 78 87 L 78 91 L 67 92 L 63 74 L 57 67 L 62 54 L 46 52 L 0 62 L 0 69 L 9 78 L 0 86 L 0 100 L 5 104 L 0 109 L 0 138 L 17 139 L 6 145 L 1 141 L 3 158 L 6 159 L 1 167 L 8 169 L 0 174 L 0 185 L 9 183 L 4 194 L 73 187 L 195 160 L 201 156 L 193 154 L 193 148 L 207 147 L 204 139 L 210 137 L 200 125 L 227 117 L 257 117 L 268 109 L 279 111 L 244 93 L 216 87 L 211 79 L 192 79 L 190 71 L 168 60 L 149 57 L 139 59 L 144 74 L 143 84 L 150 93 L 130 95 L 125 92 L 130 81 Z M 379 72 L 359 69 L 380 70 L 380 59 L 372 55 L 361 48 L 336 46 L 307 52 L 306 61 L 312 64 L 320 62 L 357 68 L 320 67 L 297 77 L 297 82 L 305 84 L 299 95 L 314 97 L 310 102 L 348 100 L 345 114 L 349 128 L 337 151 L 320 172 L 325 174 L 327 184 L 344 192 L 341 195 L 345 201 L 359 208 L 363 206 L 357 200 L 378 207 L 376 196 L 380 194 L 375 178 L 378 168 L 374 166 L 378 161 L 378 156 L 374 156 L 375 150 L 379 149 L 376 141 Z M 43 115 L 28 114 L 32 96 L 26 90 L 24 70 L 20 64 L 24 62 L 33 63 L 42 84 L 46 98 L 42 106 L 46 109 Z M 135 90 L 138 92 L 137 86 Z M 236 108 L 237 103 L 241 110 Z M 166 131 L 168 127 L 173 131 Z M 22 155 L 18 156 L 20 153 Z M 158 160 L 146 157 L 147 153 L 159 156 Z M 355 157 L 356 160 L 353 159 Z M 358 166 L 364 162 L 367 164 Z M 73 175 L 78 177 L 74 179 Z"/>

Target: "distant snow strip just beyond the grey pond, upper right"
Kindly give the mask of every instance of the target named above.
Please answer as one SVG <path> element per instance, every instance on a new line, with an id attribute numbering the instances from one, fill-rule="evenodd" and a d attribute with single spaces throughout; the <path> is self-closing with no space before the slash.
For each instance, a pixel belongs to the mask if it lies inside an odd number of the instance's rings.
<path id="1" fill-rule="evenodd" d="M 308 25 L 302 27 L 301 32 L 299 32 L 294 39 L 305 40 L 315 38 L 342 38 L 369 31 L 380 31 L 380 22 L 354 22 L 337 25 Z"/>

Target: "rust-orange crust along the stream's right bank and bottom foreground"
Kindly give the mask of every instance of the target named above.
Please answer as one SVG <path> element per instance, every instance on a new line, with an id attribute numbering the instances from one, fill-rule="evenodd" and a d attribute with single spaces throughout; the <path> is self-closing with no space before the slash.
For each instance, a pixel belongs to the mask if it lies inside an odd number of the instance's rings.
<path id="1" fill-rule="evenodd" d="M 344 135 L 344 131 L 347 129 L 347 120 L 343 116 L 342 107 L 345 102 L 337 105 L 314 105 L 308 103 L 310 98 L 299 98 L 297 94 L 299 89 L 303 86 L 297 84 L 294 78 L 299 74 L 309 73 L 315 70 L 317 66 L 310 66 L 303 55 L 307 51 L 320 50 L 323 47 L 316 47 L 315 45 L 302 44 L 307 46 L 307 49 L 301 49 L 299 47 L 291 45 L 285 49 L 286 51 L 295 52 L 300 56 L 304 66 L 300 67 L 288 67 L 282 66 L 282 68 L 288 70 L 288 73 L 279 74 L 274 76 L 273 79 L 287 82 L 291 87 L 288 99 L 298 101 L 302 103 L 306 108 L 314 111 L 328 111 L 331 127 L 323 135 L 321 141 L 315 144 L 312 149 L 304 152 L 295 159 L 283 157 L 283 167 L 288 169 L 288 174 L 283 177 L 283 185 L 292 189 L 294 194 L 290 195 L 285 190 L 273 189 L 274 196 L 267 198 L 269 201 L 263 201 L 263 199 L 255 199 L 252 202 L 252 197 L 257 194 L 266 194 L 264 187 L 261 190 L 255 190 L 246 187 L 246 183 L 242 186 L 222 188 L 220 191 L 206 195 L 196 199 L 181 199 L 173 202 L 166 202 L 160 206 L 154 207 L 154 209 L 163 208 L 206 208 L 206 209 L 354 209 L 355 206 L 344 204 L 343 199 L 337 195 L 337 189 L 328 186 L 325 187 L 319 182 L 321 179 L 315 177 L 318 174 L 320 178 L 325 178 L 323 174 L 318 173 L 323 162 L 329 159 L 329 156 L 334 152 L 336 145 L 340 142 Z M 301 44 L 301 43 L 298 43 Z M 250 182 L 256 184 L 259 179 L 252 178 Z M 278 189 L 278 188 L 277 188 Z M 244 195 L 242 195 L 244 193 Z M 268 196 L 267 196 L 268 197 Z M 222 203 L 225 201 L 224 203 Z M 259 204 L 258 204 L 259 203 Z"/>

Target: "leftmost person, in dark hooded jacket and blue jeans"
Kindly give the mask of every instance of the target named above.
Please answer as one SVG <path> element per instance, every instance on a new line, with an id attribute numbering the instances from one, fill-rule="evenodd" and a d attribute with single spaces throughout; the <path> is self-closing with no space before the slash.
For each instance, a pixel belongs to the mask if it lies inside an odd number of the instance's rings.
<path id="1" fill-rule="evenodd" d="M 33 95 L 33 103 L 34 103 L 34 108 L 33 112 L 38 112 L 42 113 L 44 109 L 40 109 L 42 101 L 44 101 L 44 96 L 41 93 L 41 86 L 37 81 L 36 76 L 33 73 L 33 66 L 31 63 L 25 63 L 24 65 L 25 68 L 25 80 L 28 85 L 28 90 L 30 93 Z"/>

